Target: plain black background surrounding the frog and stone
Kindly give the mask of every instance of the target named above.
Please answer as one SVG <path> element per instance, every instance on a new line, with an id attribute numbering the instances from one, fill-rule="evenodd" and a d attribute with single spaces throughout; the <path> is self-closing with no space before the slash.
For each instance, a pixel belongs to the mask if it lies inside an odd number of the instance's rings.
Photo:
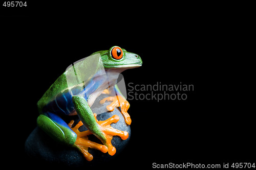
<path id="1" fill-rule="evenodd" d="M 182 82 L 193 84 L 194 91 L 185 101 L 129 101 L 132 136 L 114 160 L 117 167 L 255 162 L 253 67 L 244 50 L 250 47 L 246 32 L 237 27 L 246 25 L 240 13 L 154 4 L 86 13 L 85 6 L 31 6 L 3 18 L 3 89 L 8 93 L 3 133 L 14 149 L 10 160 L 35 166 L 24 144 L 36 127 L 36 103 L 67 66 L 118 45 L 143 61 L 142 67 L 123 72 L 126 88 L 129 82 Z"/>

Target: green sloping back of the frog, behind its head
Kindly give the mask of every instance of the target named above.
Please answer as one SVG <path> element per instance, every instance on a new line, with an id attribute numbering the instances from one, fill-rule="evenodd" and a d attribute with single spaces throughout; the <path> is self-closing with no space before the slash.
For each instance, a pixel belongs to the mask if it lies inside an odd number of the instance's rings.
<path id="1" fill-rule="evenodd" d="M 72 91 L 74 89 L 76 93 L 83 90 L 84 84 L 88 83 L 91 78 L 94 77 L 96 72 L 102 69 L 100 67 L 102 64 L 98 64 L 100 61 L 100 55 L 97 55 L 96 57 L 92 56 L 89 60 L 82 59 L 75 65 L 68 67 L 37 102 L 39 114 L 42 114 L 44 112 L 43 108 L 50 103 L 53 104 L 57 101 L 61 104 L 66 102 L 65 105 L 70 103 L 72 101 L 72 96 L 69 93 L 69 88 L 72 88 Z M 69 80 L 68 83 L 67 79 Z M 83 81 L 79 83 L 77 81 L 78 79 Z M 66 98 L 68 98 L 68 100 Z M 65 111 L 65 113 L 67 114 L 68 111 Z"/>

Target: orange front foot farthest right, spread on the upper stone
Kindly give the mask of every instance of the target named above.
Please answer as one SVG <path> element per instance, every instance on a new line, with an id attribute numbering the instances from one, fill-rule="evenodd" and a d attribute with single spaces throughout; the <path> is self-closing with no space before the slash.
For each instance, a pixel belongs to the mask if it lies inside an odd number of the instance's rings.
<path id="1" fill-rule="evenodd" d="M 123 96 L 117 95 L 104 98 L 100 101 L 100 104 L 105 103 L 105 101 L 112 101 L 110 105 L 106 106 L 106 109 L 108 109 L 109 111 L 113 111 L 115 107 L 120 107 L 126 124 L 131 125 L 132 119 L 129 113 L 127 113 L 127 110 L 130 108 L 130 104 L 123 98 Z"/>

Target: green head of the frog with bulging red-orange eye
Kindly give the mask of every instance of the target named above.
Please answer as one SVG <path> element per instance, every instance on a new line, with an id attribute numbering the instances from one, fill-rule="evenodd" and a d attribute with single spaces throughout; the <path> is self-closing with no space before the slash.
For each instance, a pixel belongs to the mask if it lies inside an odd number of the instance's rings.
<path id="1" fill-rule="evenodd" d="M 130 53 L 120 48 L 119 46 L 112 46 L 110 50 L 99 51 L 94 54 L 100 54 L 104 68 L 111 70 L 123 71 L 129 68 L 135 68 L 142 65 L 142 60 L 139 55 Z"/>

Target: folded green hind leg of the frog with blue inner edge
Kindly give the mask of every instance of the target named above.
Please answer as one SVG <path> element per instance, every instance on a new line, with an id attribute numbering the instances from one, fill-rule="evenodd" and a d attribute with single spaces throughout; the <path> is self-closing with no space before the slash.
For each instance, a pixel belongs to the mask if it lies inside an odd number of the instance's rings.
<path id="1" fill-rule="evenodd" d="M 70 146 L 75 144 L 76 133 L 59 116 L 49 112 L 47 116 L 40 114 L 37 125 L 54 140 Z"/>

